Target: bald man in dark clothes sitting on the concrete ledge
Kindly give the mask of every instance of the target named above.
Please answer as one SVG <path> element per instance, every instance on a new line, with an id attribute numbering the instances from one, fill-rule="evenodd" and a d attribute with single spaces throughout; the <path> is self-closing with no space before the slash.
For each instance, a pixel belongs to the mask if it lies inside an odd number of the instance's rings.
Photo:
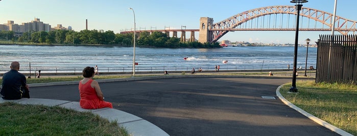
<path id="1" fill-rule="evenodd" d="M 3 75 L 3 83 L 0 94 L 3 99 L 30 98 L 29 86 L 26 83 L 25 75 L 19 73 L 20 63 L 11 62 L 10 71 Z"/>

